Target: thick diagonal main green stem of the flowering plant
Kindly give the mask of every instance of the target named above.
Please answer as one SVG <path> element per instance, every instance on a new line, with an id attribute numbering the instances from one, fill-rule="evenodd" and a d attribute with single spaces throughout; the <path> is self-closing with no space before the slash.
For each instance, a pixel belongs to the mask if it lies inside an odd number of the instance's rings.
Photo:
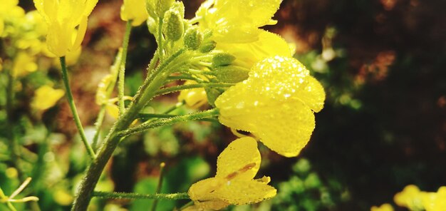
<path id="1" fill-rule="evenodd" d="M 97 158 L 88 166 L 83 180 L 81 181 L 81 185 L 78 187 L 78 192 L 71 210 L 87 210 L 100 174 L 103 172 L 105 165 L 107 164 L 108 160 L 110 160 L 115 149 L 118 147 L 118 143 L 120 143 L 121 137 L 117 135 L 117 132 L 128 128 L 133 120 L 138 117 L 138 113 L 140 113 L 142 108 L 144 108 L 150 99 L 155 96 L 155 91 L 157 91 L 163 85 L 167 76 L 170 75 L 169 71 L 175 67 L 175 65 L 171 67 L 170 64 L 174 63 L 182 65 L 182 62 L 180 61 L 183 59 L 181 55 L 184 52 L 184 50 L 181 50 L 174 53 L 164 63 L 158 66 L 155 71 L 152 71 L 149 75 L 147 75 L 145 83 L 143 83 L 138 90 L 138 93 L 133 99 L 133 102 L 130 103 L 129 108 L 125 110 L 123 115 L 118 118 L 115 125 L 113 125 L 108 135 L 105 137 L 103 145 L 98 151 Z M 152 59 L 149 70 L 155 66 L 156 62 L 156 59 Z"/>

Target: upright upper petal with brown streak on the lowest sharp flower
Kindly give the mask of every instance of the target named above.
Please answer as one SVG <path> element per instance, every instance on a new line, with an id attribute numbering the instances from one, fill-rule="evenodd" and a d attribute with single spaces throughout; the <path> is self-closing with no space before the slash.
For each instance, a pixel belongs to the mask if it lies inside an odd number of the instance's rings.
<path id="1" fill-rule="evenodd" d="M 232 141 L 217 159 L 217 175 L 227 180 L 251 180 L 260 168 L 260 153 L 254 138 Z"/>

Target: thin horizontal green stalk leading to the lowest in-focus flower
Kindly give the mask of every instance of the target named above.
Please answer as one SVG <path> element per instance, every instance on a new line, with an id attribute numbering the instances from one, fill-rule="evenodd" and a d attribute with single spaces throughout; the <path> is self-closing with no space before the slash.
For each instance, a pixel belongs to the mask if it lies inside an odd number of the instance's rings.
<path id="1" fill-rule="evenodd" d="M 187 192 L 169 193 L 169 194 L 140 194 L 135 192 L 93 192 L 94 197 L 108 199 L 129 199 L 129 200 L 187 200 Z"/>

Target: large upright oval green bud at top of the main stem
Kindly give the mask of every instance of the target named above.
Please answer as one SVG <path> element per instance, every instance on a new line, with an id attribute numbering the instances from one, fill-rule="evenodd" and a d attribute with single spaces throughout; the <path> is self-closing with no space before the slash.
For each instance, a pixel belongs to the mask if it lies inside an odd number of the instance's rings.
<path id="1" fill-rule="evenodd" d="M 164 24 L 162 24 L 162 32 L 167 40 L 177 41 L 185 32 L 183 19 L 178 11 L 170 9 L 164 15 Z"/>

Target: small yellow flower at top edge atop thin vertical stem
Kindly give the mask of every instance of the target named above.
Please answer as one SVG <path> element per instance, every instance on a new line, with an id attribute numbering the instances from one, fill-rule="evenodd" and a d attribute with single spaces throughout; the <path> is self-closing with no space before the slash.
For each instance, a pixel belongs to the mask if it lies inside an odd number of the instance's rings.
<path id="1" fill-rule="evenodd" d="M 140 26 L 149 16 L 145 9 L 145 0 L 124 0 L 120 15 L 123 21 L 133 20 L 132 26 Z"/>

